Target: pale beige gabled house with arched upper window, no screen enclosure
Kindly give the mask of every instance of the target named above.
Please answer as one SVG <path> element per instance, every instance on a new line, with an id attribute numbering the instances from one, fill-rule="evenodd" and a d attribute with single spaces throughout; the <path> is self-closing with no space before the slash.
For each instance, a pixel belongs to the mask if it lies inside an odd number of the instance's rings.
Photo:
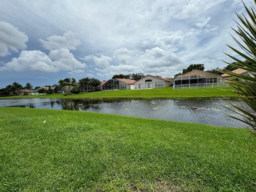
<path id="1" fill-rule="evenodd" d="M 135 89 L 164 88 L 171 85 L 171 80 L 147 75 L 135 82 Z"/>

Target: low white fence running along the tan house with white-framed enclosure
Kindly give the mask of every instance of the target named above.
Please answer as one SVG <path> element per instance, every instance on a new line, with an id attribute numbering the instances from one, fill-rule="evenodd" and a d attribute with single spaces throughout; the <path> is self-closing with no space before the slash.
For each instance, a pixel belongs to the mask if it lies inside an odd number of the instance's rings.
<path id="1" fill-rule="evenodd" d="M 184 84 L 184 85 L 173 85 L 173 89 L 183 88 L 223 88 L 229 87 L 228 83 L 200 83 L 200 84 Z"/>

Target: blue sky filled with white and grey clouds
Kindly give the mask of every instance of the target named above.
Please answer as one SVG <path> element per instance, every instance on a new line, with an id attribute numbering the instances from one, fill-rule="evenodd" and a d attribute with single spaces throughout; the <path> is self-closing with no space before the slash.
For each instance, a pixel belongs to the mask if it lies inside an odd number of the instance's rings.
<path id="1" fill-rule="evenodd" d="M 235 12 L 241 0 L 0 0 L 0 88 L 224 67 Z"/>

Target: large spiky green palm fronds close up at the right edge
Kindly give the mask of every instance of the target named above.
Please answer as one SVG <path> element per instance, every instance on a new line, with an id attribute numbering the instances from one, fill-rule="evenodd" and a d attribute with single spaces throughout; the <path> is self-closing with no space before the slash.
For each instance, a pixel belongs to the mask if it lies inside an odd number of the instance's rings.
<path id="1" fill-rule="evenodd" d="M 256 0 L 254 0 L 256 4 Z M 241 16 L 237 14 L 241 24 L 237 23 L 238 30 L 234 30 L 236 34 L 242 39 L 242 42 L 239 42 L 236 38 L 233 39 L 235 42 L 242 48 L 243 52 L 232 48 L 229 46 L 236 54 L 240 55 L 242 58 L 246 59 L 247 62 L 244 62 L 234 56 L 228 55 L 230 58 L 234 59 L 236 63 L 228 63 L 227 64 L 234 66 L 236 68 L 244 69 L 249 72 L 249 76 L 236 74 L 230 70 L 223 70 L 224 73 L 233 76 L 233 80 L 225 80 L 227 81 L 233 92 L 238 94 L 238 97 L 241 98 L 247 106 L 235 106 L 234 104 L 230 104 L 232 106 L 233 112 L 236 112 L 242 115 L 243 118 L 239 119 L 242 122 L 245 122 L 254 137 L 256 137 L 256 78 L 252 74 L 256 74 L 256 10 L 253 6 L 250 9 L 246 7 L 246 12 L 248 13 L 249 19 L 247 19 L 244 14 Z M 240 78 L 242 81 L 235 80 L 235 78 Z"/>

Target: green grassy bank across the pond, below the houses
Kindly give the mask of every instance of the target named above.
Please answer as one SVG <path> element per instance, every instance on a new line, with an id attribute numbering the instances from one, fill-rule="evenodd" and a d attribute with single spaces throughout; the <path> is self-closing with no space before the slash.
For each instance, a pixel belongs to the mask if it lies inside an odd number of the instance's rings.
<path id="1" fill-rule="evenodd" d="M 226 88 L 230 90 L 230 88 Z M 236 97 L 237 95 L 226 90 L 218 88 L 192 88 L 192 89 L 175 89 L 172 87 L 140 89 L 140 90 L 116 90 L 116 91 L 99 91 L 87 92 L 74 95 L 28 95 L 28 96 L 11 96 L 0 97 L 0 99 L 10 98 L 194 98 L 194 97 Z"/>

